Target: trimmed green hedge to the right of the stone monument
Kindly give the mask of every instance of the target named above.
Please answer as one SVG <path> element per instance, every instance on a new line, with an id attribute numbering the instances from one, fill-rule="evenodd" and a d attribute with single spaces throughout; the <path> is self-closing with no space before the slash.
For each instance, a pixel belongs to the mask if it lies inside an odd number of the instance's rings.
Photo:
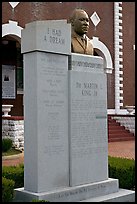
<path id="1" fill-rule="evenodd" d="M 119 179 L 119 187 L 133 189 L 135 187 L 135 160 L 108 157 L 109 178 Z"/>

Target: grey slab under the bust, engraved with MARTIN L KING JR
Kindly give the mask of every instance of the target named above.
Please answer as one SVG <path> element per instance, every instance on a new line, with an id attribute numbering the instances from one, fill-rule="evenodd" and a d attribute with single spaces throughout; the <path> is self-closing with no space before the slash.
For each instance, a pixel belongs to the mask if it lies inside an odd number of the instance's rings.
<path id="1" fill-rule="evenodd" d="M 89 60 L 84 57 L 85 61 Z M 102 65 L 98 60 L 94 63 Z M 104 72 L 70 70 L 69 99 L 70 185 L 105 180 L 108 178 L 108 136 Z"/>

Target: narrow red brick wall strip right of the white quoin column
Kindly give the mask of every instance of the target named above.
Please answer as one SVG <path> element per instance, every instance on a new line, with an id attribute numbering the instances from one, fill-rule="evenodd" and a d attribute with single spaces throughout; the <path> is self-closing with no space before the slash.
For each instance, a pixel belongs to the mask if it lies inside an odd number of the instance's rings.
<path id="1" fill-rule="evenodd" d="M 123 38 L 124 105 L 135 105 L 135 2 L 123 2 Z"/>

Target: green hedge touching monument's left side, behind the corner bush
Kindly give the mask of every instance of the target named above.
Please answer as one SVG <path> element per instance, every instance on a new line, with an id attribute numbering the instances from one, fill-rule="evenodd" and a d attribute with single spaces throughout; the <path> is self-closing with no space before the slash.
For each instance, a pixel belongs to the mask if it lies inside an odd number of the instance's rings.
<path id="1" fill-rule="evenodd" d="M 15 182 L 15 188 L 24 186 L 24 165 L 18 166 L 3 166 L 2 176 L 7 179 L 12 179 Z"/>

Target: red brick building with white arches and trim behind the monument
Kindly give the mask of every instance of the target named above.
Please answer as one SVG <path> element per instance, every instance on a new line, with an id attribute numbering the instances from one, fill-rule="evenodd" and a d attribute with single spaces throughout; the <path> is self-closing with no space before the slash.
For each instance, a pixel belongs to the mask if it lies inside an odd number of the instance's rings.
<path id="1" fill-rule="evenodd" d="M 88 13 L 94 54 L 104 58 L 108 114 L 135 105 L 135 2 L 2 2 L 2 104 L 13 105 L 11 115 L 23 115 L 21 30 L 36 20 L 68 19 L 76 7 Z"/>

